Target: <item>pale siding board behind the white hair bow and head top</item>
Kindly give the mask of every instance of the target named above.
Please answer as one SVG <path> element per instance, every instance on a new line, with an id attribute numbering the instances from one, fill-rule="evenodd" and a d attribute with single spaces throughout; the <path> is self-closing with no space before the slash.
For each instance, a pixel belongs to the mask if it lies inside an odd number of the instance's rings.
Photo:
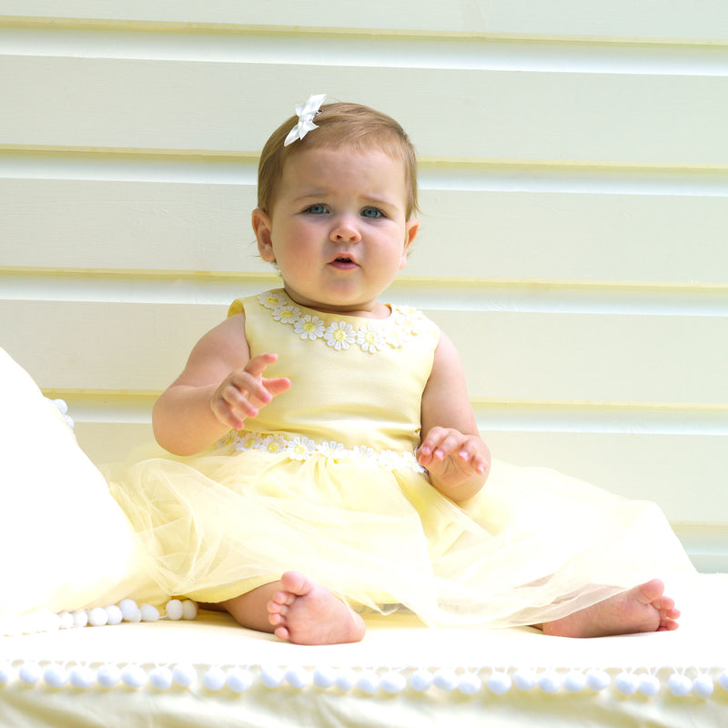
<path id="1" fill-rule="evenodd" d="M 349 100 L 355 88 L 408 129 L 423 157 L 728 165 L 728 76 L 344 65 L 282 74 L 274 63 L 12 55 L 2 73 L 0 138 L 10 147 L 256 153 L 270 119 L 289 115 L 284 99 L 324 89 Z M 432 89 L 452 86 L 443 115 Z"/>

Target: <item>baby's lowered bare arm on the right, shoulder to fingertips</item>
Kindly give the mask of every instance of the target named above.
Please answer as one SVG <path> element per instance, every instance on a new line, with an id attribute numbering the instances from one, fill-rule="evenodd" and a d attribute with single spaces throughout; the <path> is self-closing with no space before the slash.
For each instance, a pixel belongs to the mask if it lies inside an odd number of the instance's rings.
<path id="1" fill-rule="evenodd" d="M 490 451 L 480 439 L 460 356 L 445 334 L 440 334 L 422 395 L 422 441 L 417 459 L 430 470 L 432 485 L 456 502 L 474 496 L 490 471 Z"/>

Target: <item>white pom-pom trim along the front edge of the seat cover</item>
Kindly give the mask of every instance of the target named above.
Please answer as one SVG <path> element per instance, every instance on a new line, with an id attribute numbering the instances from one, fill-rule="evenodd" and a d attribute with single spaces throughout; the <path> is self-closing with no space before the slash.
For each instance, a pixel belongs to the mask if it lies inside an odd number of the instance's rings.
<path id="1" fill-rule="evenodd" d="M 662 673 L 662 675 L 660 674 Z M 319 691 L 357 693 L 370 698 L 415 693 L 453 693 L 465 697 L 490 695 L 497 699 L 513 691 L 546 694 L 587 693 L 597 696 L 610 691 L 621 699 L 653 698 L 659 693 L 674 698 L 709 700 L 728 693 L 728 668 L 675 670 L 619 669 L 532 670 L 530 668 L 317 668 L 274 664 L 193 665 L 108 664 L 106 662 L 0 662 L 0 694 L 17 683 L 45 690 L 188 690 L 196 693 L 228 693 L 231 697 L 251 690 Z"/>

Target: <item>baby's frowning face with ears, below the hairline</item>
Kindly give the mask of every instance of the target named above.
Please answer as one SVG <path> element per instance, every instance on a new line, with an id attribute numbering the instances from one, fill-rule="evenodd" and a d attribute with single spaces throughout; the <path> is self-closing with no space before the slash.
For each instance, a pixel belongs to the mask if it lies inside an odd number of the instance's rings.
<path id="1" fill-rule="evenodd" d="M 383 318 L 389 308 L 377 298 L 417 234 L 406 204 L 399 160 L 379 149 L 307 149 L 288 158 L 271 214 L 254 213 L 258 249 L 299 304 Z"/>

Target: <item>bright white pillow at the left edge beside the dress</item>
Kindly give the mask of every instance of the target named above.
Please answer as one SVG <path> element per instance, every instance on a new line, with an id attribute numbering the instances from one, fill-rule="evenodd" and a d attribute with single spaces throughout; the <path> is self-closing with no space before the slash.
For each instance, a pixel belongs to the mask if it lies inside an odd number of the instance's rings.
<path id="1" fill-rule="evenodd" d="M 0 349 L 0 622 L 106 606 L 147 582 L 106 480 L 56 405 Z"/>

